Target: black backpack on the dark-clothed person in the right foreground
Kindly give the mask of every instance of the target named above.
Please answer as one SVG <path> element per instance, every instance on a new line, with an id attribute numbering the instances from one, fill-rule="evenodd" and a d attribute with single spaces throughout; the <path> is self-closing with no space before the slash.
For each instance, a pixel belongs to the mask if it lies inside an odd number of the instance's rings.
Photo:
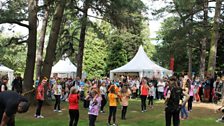
<path id="1" fill-rule="evenodd" d="M 167 108 L 169 111 L 179 111 L 180 110 L 180 105 L 179 102 L 183 97 L 182 89 L 181 88 L 171 88 L 168 89 L 170 90 L 170 98 L 167 101 Z"/>

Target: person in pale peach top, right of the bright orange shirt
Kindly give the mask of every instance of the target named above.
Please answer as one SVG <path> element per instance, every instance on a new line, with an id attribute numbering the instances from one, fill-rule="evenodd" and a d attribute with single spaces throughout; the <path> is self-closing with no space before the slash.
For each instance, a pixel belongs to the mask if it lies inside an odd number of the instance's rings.
<path id="1" fill-rule="evenodd" d="M 126 120 L 126 113 L 128 108 L 128 100 L 130 98 L 131 91 L 128 88 L 128 85 L 124 85 L 121 89 L 121 104 L 122 104 L 122 111 L 121 111 L 121 119 Z"/>

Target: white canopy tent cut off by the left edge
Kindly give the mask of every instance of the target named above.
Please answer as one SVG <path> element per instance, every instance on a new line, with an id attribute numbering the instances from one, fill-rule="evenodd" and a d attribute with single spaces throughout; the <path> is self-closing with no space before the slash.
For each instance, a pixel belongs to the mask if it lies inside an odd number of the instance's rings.
<path id="1" fill-rule="evenodd" d="M 14 73 L 14 70 L 0 64 L 0 75 L 1 77 L 2 76 L 5 76 L 7 75 L 9 80 L 8 80 L 8 86 L 11 87 L 11 84 L 12 84 L 12 81 L 14 79 L 14 76 L 13 76 L 13 73 Z"/>

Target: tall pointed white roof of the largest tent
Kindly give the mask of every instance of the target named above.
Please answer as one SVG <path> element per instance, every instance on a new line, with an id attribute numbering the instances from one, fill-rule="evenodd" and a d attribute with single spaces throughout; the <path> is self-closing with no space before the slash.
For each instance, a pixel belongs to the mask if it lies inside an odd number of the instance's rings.
<path id="1" fill-rule="evenodd" d="M 147 54 L 145 53 L 142 45 L 139 47 L 138 52 L 130 62 L 128 62 L 124 66 L 111 70 L 110 72 L 116 73 L 116 72 L 144 72 L 144 71 L 162 71 L 171 73 L 170 70 L 167 70 L 151 61 L 148 58 Z"/>

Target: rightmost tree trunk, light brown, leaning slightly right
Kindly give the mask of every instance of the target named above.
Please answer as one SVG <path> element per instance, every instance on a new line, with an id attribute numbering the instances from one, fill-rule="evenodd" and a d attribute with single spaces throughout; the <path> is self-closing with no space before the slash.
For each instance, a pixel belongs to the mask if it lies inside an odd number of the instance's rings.
<path id="1" fill-rule="evenodd" d="M 216 0 L 215 16 L 212 28 L 212 38 L 211 38 L 209 61 L 208 61 L 208 72 L 212 77 L 214 77 L 215 75 L 217 43 L 219 40 L 219 22 L 220 22 L 221 5 L 222 1 Z"/>

